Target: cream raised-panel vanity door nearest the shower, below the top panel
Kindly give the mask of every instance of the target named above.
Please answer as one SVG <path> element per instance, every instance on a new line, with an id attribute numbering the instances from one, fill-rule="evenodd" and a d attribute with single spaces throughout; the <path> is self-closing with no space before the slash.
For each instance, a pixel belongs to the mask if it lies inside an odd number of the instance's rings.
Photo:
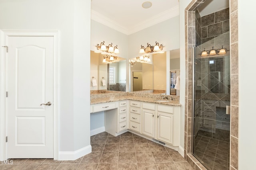
<path id="1" fill-rule="evenodd" d="M 158 112 L 158 140 L 172 144 L 173 120 L 174 116 L 172 114 Z"/>

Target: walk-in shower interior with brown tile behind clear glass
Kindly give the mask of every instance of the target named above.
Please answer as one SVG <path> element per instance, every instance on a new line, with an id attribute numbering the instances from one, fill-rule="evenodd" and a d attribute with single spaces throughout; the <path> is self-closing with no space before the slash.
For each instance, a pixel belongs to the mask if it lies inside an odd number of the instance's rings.
<path id="1" fill-rule="evenodd" d="M 229 8 L 205 14 L 200 8 L 195 11 L 192 154 L 209 170 L 228 170 L 230 164 Z M 222 48 L 226 53 L 220 54 Z M 203 51 L 206 52 L 202 54 Z"/>

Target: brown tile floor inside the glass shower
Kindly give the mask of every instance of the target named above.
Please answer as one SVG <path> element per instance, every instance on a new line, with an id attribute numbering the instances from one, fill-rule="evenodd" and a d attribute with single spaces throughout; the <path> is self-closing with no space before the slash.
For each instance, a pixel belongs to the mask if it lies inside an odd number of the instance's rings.
<path id="1" fill-rule="evenodd" d="M 194 155 L 208 170 L 229 170 L 230 143 L 198 135 Z"/>

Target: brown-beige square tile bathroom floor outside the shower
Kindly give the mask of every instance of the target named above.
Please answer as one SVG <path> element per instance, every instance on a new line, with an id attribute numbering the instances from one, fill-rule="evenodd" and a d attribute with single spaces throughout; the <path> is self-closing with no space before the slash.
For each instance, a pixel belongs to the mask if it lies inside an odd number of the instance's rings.
<path id="1" fill-rule="evenodd" d="M 193 170 L 177 151 L 130 132 L 99 133 L 91 145 L 90 154 L 74 161 L 10 159 L 13 164 L 0 164 L 0 170 Z"/>

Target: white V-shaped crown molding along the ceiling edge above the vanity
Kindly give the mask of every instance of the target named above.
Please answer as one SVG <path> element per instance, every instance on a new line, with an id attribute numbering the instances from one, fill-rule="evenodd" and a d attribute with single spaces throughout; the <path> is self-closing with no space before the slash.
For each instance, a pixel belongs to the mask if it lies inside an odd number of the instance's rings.
<path id="1" fill-rule="evenodd" d="M 91 19 L 94 21 L 97 21 L 99 23 L 102 23 L 103 25 L 106 25 L 112 29 L 115 29 L 116 31 L 119 31 L 126 35 L 130 35 L 132 33 L 136 33 L 137 31 L 140 31 L 142 29 L 145 29 L 147 27 L 150 27 L 152 25 L 155 25 L 157 23 L 168 20 L 168 19 L 173 18 L 178 15 L 179 15 L 179 6 L 175 6 L 174 8 L 171 8 L 170 10 L 166 10 L 166 11 L 164 11 L 154 17 L 151 17 L 148 20 L 144 20 L 143 22 L 138 23 L 130 28 L 125 28 L 122 25 L 120 25 L 119 23 L 117 23 L 116 21 L 113 21 L 110 18 L 107 18 L 94 10 L 92 10 Z"/>

